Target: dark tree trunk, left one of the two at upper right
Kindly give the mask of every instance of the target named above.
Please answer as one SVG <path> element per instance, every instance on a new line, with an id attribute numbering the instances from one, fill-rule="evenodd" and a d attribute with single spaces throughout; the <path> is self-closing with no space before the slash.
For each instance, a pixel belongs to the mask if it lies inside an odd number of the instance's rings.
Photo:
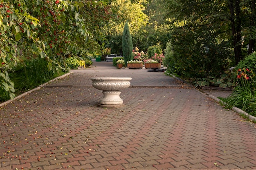
<path id="1" fill-rule="evenodd" d="M 240 0 L 229 0 L 230 21 L 234 42 L 236 64 L 242 60 Z"/>

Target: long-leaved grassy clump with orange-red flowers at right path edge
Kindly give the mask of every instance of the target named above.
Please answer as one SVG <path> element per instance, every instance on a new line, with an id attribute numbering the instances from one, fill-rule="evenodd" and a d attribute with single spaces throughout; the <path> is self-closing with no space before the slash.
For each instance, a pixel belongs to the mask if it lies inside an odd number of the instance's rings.
<path id="1" fill-rule="evenodd" d="M 227 108 L 235 106 L 256 116 L 256 76 L 249 69 L 238 69 L 235 91 L 226 99 Z"/>

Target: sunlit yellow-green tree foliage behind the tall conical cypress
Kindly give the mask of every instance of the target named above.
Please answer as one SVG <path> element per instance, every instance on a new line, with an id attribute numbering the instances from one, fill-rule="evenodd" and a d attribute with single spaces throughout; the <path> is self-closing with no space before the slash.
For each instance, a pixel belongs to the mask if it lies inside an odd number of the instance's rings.
<path id="1" fill-rule="evenodd" d="M 119 38 L 124 30 L 126 21 L 130 24 L 133 46 L 139 46 L 146 53 L 149 46 L 158 44 L 162 49 L 166 48 L 166 42 L 170 39 L 170 25 L 165 24 L 164 0 L 147 1 L 139 0 L 130 4 L 129 1 L 112 1 L 112 9 L 117 13 L 111 18 L 109 25 L 104 27 L 107 40 L 104 42 L 111 48 L 112 53 L 122 53 L 122 43 Z M 142 5 L 141 5 L 142 4 Z M 148 23 L 150 20 L 150 23 Z"/>

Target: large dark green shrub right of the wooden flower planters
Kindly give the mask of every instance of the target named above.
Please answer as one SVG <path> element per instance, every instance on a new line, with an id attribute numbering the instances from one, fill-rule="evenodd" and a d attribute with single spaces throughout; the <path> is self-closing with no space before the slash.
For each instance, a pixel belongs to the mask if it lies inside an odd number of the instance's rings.
<path id="1" fill-rule="evenodd" d="M 173 34 L 173 59 L 179 75 L 219 77 L 232 66 L 232 52 L 226 47 L 228 42 L 214 36 L 208 31 L 190 29 L 180 29 Z"/>

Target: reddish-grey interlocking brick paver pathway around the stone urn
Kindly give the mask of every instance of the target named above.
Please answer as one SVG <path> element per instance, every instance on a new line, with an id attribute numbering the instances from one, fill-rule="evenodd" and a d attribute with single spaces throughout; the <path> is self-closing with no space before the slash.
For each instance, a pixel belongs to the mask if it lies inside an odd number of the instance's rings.
<path id="1" fill-rule="evenodd" d="M 94 64 L 0 108 L 0 170 L 256 169 L 255 124 L 163 73 Z M 132 77 L 125 106 L 97 107 L 90 77 Z"/>

